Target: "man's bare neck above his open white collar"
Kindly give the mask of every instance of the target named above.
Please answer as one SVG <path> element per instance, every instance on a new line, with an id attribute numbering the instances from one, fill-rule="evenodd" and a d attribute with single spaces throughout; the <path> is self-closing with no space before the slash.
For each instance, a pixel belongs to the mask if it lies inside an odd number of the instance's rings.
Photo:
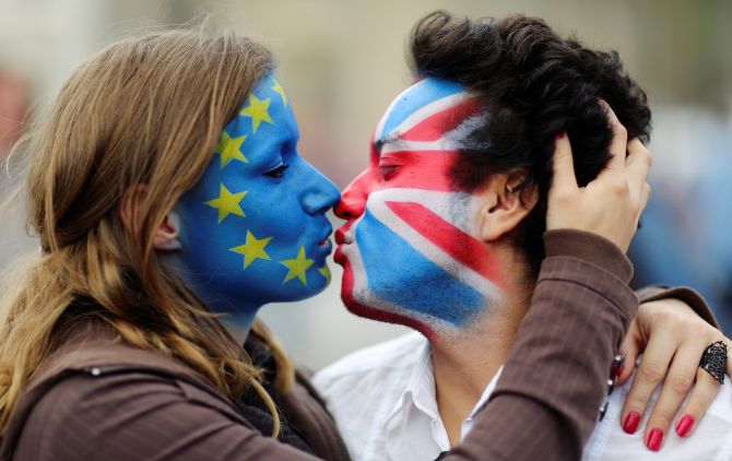
<path id="1" fill-rule="evenodd" d="M 451 446 L 460 442 L 462 422 L 508 357 L 529 306 L 521 297 L 492 307 L 469 329 L 430 339 L 437 407 Z"/>

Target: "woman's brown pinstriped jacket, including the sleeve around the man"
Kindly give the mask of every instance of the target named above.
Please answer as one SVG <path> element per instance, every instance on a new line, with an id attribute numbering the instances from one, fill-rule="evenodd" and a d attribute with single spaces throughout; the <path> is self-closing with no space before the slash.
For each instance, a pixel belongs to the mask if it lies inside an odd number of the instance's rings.
<path id="1" fill-rule="evenodd" d="M 629 262 L 607 240 L 554 230 L 545 244 L 531 309 L 498 386 L 473 430 L 446 460 L 581 456 L 605 398 L 611 358 L 638 298 L 627 286 Z M 644 293 L 645 298 L 662 296 L 684 298 L 713 322 L 692 292 Z M 191 368 L 113 338 L 91 324 L 74 329 L 19 401 L 1 435 L 0 459 L 315 459 L 263 436 Z M 279 403 L 317 457 L 349 459 L 304 376 Z"/>

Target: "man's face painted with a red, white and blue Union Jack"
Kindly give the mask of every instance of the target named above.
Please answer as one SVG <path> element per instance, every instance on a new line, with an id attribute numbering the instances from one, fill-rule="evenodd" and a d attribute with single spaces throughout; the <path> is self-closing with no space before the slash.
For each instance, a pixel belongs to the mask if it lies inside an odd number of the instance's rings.
<path id="1" fill-rule="evenodd" d="M 477 238 L 477 198 L 453 186 L 477 98 L 453 82 L 422 80 L 397 96 L 373 138 L 370 163 L 335 213 L 342 298 L 356 315 L 427 336 L 460 330 L 503 296 Z"/>

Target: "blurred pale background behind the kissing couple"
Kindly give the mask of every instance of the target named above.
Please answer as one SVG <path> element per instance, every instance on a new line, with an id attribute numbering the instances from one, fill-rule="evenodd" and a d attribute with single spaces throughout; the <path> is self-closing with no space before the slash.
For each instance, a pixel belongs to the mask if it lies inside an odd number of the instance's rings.
<path id="1" fill-rule="evenodd" d="M 2 103 L 19 92 L 29 91 L 42 111 L 79 63 L 116 38 L 208 21 L 272 48 L 300 123 L 302 154 L 343 188 L 367 164 L 378 117 L 410 83 L 404 45 L 412 24 L 438 8 L 476 17 L 541 16 L 562 34 L 621 54 L 647 88 L 654 119 L 653 197 L 631 248 L 636 280 L 696 286 L 729 334 L 732 2 L 725 0 L 0 0 L 0 118 L 19 117 Z M 2 75 L 27 90 L 9 96 Z M 0 142 L 0 156 L 7 149 Z M 10 182 L 0 181 L 1 193 Z M 3 233 L 22 229 L 22 213 L 9 213 L 0 218 L 3 265 L 11 264 L 3 246 L 19 247 Z M 345 312 L 340 268 L 331 267 L 335 282 L 326 293 L 262 314 L 287 350 L 316 368 L 404 331 Z"/>

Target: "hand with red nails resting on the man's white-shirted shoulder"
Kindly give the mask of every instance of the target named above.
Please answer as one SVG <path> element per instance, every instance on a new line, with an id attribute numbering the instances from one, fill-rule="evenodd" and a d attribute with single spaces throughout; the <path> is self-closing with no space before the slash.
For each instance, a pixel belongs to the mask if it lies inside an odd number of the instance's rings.
<path id="1" fill-rule="evenodd" d="M 675 418 L 675 433 L 680 437 L 692 436 L 696 423 L 720 389 L 719 382 L 699 368 L 705 347 L 720 336 L 719 330 L 680 299 L 665 298 L 641 304 L 621 345 L 626 353 L 626 366 L 617 369 L 617 385 L 622 386 L 633 376 L 630 391 L 621 412 L 623 430 L 635 433 L 644 415 L 650 413 L 644 437 L 647 446 L 653 429 L 659 429 L 662 439 Z M 729 342 L 727 339 L 723 341 Z M 640 360 L 634 375 L 633 365 L 638 357 Z M 730 364 L 732 362 L 728 362 Z M 650 405 L 659 388 L 660 394 Z M 676 414 L 678 416 L 674 416 Z"/>

